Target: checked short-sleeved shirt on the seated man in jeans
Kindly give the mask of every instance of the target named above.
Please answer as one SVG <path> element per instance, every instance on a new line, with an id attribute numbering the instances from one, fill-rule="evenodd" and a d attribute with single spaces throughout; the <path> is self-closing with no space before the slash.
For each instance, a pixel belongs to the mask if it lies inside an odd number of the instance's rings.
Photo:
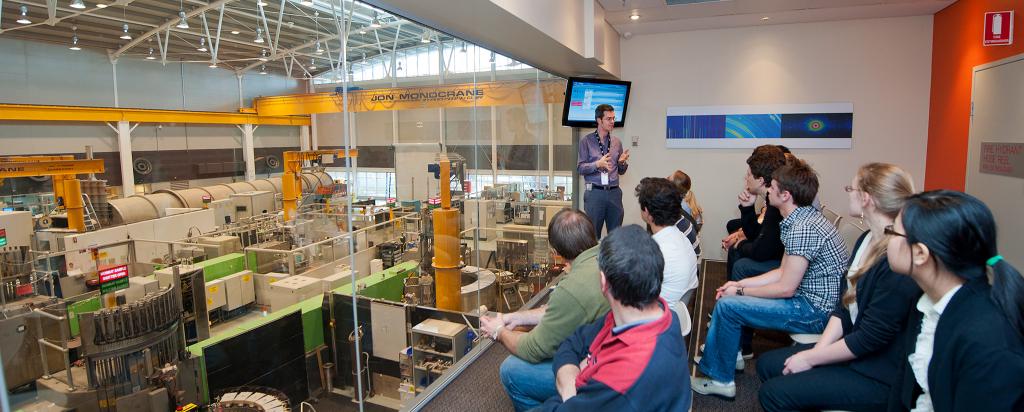
<path id="1" fill-rule="evenodd" d="M 779 223 L 785 254 L 808 261 L 796 296 L 821 312 L 836 308 L 840 282 L 846 273 L 846 246 L 836 226 L 812 206 L 798 207 Z"/>

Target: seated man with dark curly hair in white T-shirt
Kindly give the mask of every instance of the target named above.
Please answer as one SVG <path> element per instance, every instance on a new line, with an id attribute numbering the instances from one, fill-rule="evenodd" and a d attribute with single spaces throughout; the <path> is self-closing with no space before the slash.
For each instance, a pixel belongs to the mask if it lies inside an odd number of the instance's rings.
<path id="1" fill-rule="evenodd" d="M 689 305 L 697 287 L 697 255 L 690 241 L 676 228 L 683 213 L 680 205 L 683 197 L 675 184 L 660 177 L 641 179 L 636 195 L 640 218 L 647 222 L 651 238 L 665 257 L 662 297 L 673 310 L 680 301 Z"/>

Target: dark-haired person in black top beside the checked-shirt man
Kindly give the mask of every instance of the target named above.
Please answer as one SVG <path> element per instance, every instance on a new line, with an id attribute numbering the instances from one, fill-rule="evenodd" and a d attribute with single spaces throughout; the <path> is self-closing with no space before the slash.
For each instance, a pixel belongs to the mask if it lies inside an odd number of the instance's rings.
<path id="1" fill-rule="evenodd" d="M 784 165 L 784 153 L 773 145 L 760 146 L 746 158 L 744 188 L 738 197 L 739 229 L 722 240 L 722 247 L 728 252 L 726 273 L 730 281 L 761 275 L 779 266 L 783 250 L 779 237 L 782 215 L 768 201 L 768 190 L 771 188 L 772 173 Z M 765 199 L 761 217 L 754 210 L 758 197 Z M 744 327 L 739 339 L 743 359 L 754 357 L 751 347 L 753 339 L 754 332 Z M 737 364 L 737 367 L 743 368 L 741 364 Z"/>

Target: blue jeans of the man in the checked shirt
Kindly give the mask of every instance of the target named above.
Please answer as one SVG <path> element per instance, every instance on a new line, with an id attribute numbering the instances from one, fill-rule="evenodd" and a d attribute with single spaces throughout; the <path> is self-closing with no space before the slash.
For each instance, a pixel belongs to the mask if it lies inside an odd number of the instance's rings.
<path id="1" fill-rule="evenodd" d="M 804 297 L 765 299 L 754 296 L 725 296 L 715 303 L 708 328 L 700 371 L 720 382 L 733 381 L 739 329 L 780 330 L 790 333 L 821 333 L 828 314 Z"/>

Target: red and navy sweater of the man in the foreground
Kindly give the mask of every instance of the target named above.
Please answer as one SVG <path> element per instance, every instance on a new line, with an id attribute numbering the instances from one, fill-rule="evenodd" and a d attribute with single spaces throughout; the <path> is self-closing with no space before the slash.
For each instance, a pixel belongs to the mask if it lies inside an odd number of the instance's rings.
<path id="1" fill-rule="evenodd" d="M 665 299 L 662 317 L 615 333 L 609 312 L 603 319 L 577 329 L 562 342 L 552 369 L 565 365 L 586 368 L 577 376 L 577 395 L 562 402 L 554 396 L 546 411 L 686 411 L 690 407 L 690 376 L 679 318 Z"/>

